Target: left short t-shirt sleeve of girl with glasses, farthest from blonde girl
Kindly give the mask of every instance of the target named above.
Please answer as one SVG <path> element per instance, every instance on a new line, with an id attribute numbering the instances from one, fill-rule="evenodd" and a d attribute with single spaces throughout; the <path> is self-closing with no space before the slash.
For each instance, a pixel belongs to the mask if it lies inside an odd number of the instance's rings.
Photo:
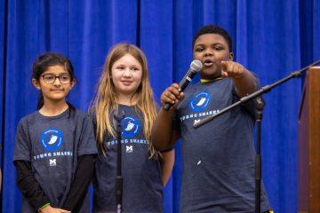
<path id="1" fill-rule="evenodd" d="M 18 124 L 15 135 L 13 162 L 15 161 L 31 162 L 30 141 L 28 141 L 22 120 Z"/>

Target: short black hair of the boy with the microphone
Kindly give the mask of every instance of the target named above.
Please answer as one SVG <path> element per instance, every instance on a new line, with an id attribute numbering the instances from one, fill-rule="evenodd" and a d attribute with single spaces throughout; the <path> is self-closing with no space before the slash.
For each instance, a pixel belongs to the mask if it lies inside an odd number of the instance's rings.
<path id="1" fill-rule="evenodd" d="M 224 28 L 220 28 L 218 25 L 206 25 L 200 28 L 196 32 L 196 35 L 194 36 L 194 40 L 192 41 L 192 50 L 194 49 L 196 39 L 199 36 L 203 36 L 204 34 L 219 34 L 220 36 L 224 37 L 224 39 L 228 43 L 229 52 L 232 52 L 232 39 L 230 35 L 228 34 L 227 30 L 225 30 Z"/>

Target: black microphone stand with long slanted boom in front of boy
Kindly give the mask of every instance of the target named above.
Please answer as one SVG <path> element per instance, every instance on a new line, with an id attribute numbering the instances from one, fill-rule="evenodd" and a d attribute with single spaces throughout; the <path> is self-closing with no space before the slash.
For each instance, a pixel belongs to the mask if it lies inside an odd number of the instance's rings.
<path id="1" fill-rule="evenodd" d="M 235 104 L 222 109 L 219 113 L 206 116 L 200 122 L 196 122 L 192 125 L 195 129 L 197 129 L 197 128 L 203 126 L 205 123 L 211 122 L 214 118 L 220 116 L 221 114 L 227 113 L 229 110 L 235 108 L 236 106 L 244 105 L 245 103 L 249 102 L 250 100 L 253 100 L 254 106 L 256 108 L 255 117 L 256 117 L 256 122 L 257 122 L 257 154 L 256 154 L 256 158 L 255 158 L 255 174 L 254 174 L 254 178 L 256 181 L 255 213 L 260 213 L 260 204 L 261 204 L 260 203 L 260 191 L 261 191 L 260 186 L 261 186 L 262 165 L 261 165 L 261 155 L 260 155 L 260 137 L 261 137 L 262 113 L 263 113 L 263 108 L 266 105 L 265 100 L 262 98 L 262 94 L 271 91 L 272 88 L 274 88 L 277 85 L 284 83 L 294 77 L 300 78 L 302 72 L 306 71 L 308 69 L 308 67 L 315 66 L 318 63 L 320 63 L 320 60 L 317 60 L 316 62 L 308 65 L 307 67 L 300 69 L 299 71 L 293 72 L 291 75 L 284 77 L 283 79 L 277 81 L 276 83 L 262 87 L 259 91 L 255 91 L 251 95 L 245 96 L 244 98 L 237 101 Z"/>

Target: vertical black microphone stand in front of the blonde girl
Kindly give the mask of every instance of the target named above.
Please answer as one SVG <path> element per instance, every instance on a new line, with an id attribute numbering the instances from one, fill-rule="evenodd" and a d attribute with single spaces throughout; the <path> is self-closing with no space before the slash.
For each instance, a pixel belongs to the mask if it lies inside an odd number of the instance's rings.
<path id="1" fill-rule="evenodd" d="M 123 177 L 121 177 L 121 121 L 124 120 L 125 111 L 122 114 L 114 114 L 116 119 L 116 213 L 122 212 L 122 192 L 123 192 Z"/>

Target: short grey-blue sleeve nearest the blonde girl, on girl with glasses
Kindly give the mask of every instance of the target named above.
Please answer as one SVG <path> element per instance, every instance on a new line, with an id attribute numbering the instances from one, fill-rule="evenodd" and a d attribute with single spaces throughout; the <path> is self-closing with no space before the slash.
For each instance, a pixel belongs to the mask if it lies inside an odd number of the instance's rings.
<path id="1" fill-rule="evenodd" d="M 83 154 L 98 154 L 95 144 L 92 121 L 89 115 L 84 117 L 78 145 L 78 156 Z"/>

